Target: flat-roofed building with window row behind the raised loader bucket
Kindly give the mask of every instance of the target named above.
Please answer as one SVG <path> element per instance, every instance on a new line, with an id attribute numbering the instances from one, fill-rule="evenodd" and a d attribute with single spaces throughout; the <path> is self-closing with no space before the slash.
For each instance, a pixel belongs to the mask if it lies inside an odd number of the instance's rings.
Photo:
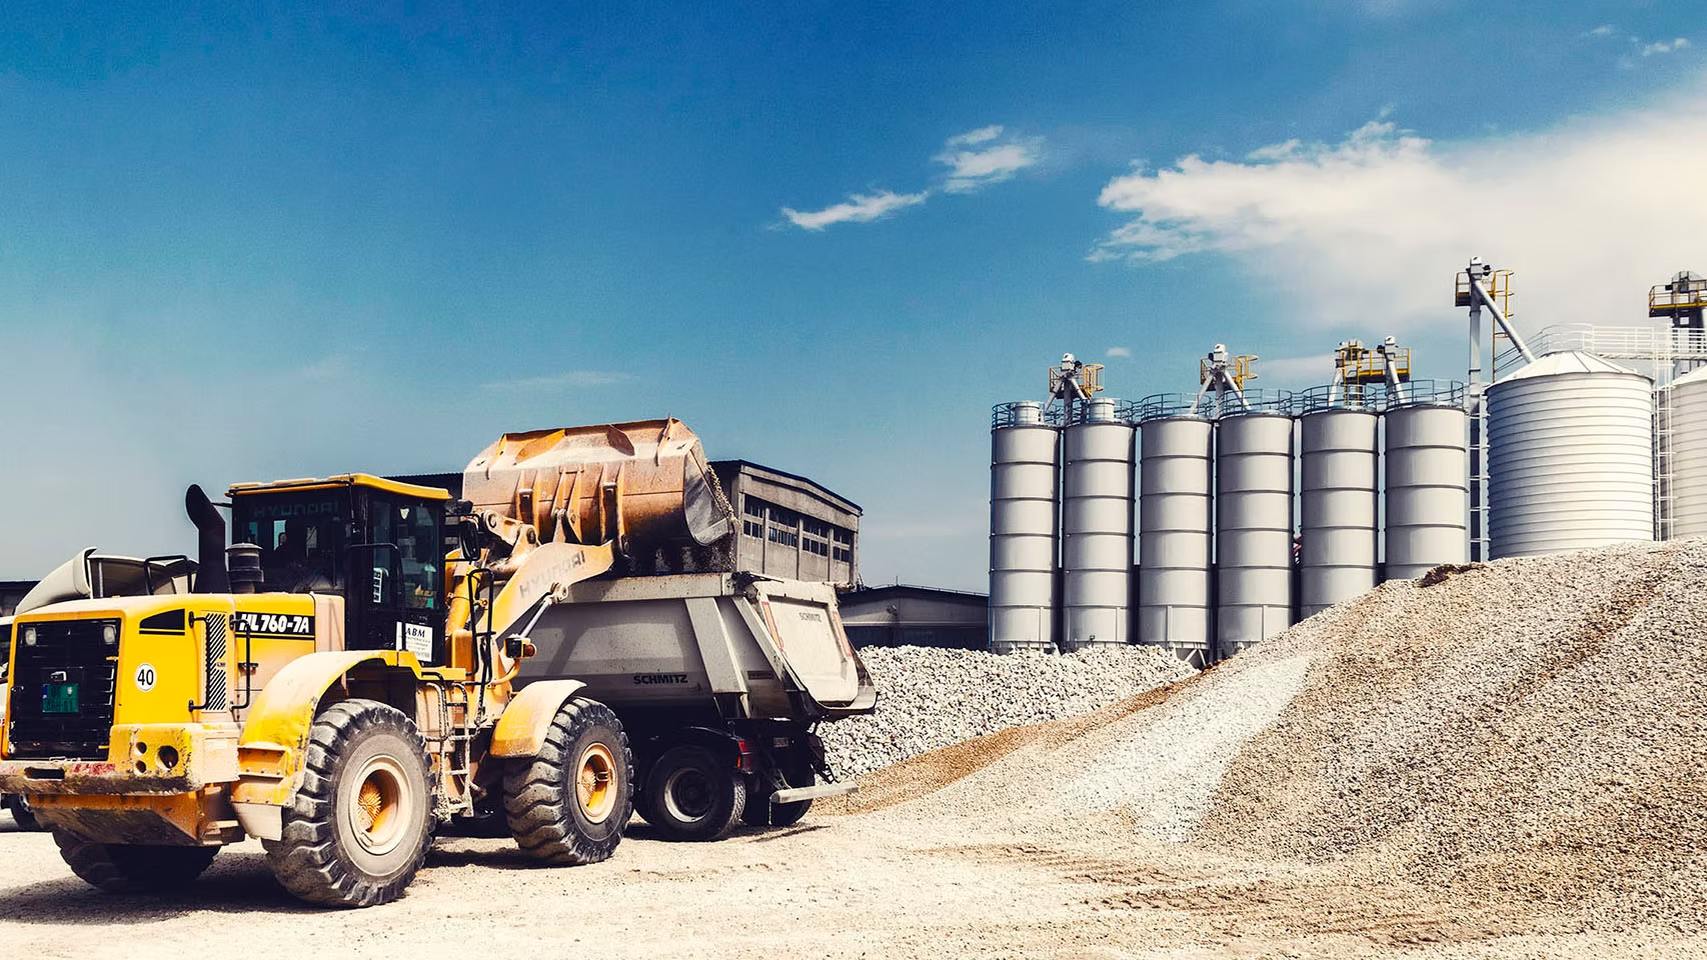
<path id="1" fill-rule="evenodd" d="M 816 480 L 748 460 L 710 463 L 741 518 L 736 569 L 770 577 L 859 582 L 859 521 L 854 500 Z M 408 473 L 393 480 L 463 492 L 461 473 Z"/>

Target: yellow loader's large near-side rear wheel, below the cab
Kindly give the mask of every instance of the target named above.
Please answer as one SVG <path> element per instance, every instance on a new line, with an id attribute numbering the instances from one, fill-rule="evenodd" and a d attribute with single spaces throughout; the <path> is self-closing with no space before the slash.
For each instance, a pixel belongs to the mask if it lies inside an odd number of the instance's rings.
<path id="1" fill-rule="evenodd" d="M 266 840 L 273 876 L 329 907 L 396 900 L 432 846 L 427 745 L 415 721 L 377 700 L 343 700 L 309 729 L 302 787 Z"/>

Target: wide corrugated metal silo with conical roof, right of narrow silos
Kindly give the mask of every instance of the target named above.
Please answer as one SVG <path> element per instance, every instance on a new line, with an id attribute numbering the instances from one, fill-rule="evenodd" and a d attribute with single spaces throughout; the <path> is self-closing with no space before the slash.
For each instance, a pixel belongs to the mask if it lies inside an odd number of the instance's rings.
<path id="1" fill-rule="evenodd" d="M 1489 388 L 1489 555 L 1654 538 L 1647 378 L 1548 354 Z"/>

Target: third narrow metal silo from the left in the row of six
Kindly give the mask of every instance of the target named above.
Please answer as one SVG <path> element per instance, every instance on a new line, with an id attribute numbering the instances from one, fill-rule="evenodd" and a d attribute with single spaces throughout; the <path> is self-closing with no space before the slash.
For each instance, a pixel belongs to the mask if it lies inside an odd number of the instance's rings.
<path id="1" fill-rule="evenodd" d="M 1214 424 L 1147 405 L 1139 424 L 1140 644 L 1207 666 Z"/>

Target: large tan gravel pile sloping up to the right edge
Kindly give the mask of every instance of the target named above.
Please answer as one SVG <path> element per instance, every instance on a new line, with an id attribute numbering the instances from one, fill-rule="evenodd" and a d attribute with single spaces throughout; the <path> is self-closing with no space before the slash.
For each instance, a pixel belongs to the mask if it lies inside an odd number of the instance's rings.
<path id="1" fill-rule="evenodd" d="M 908 808 L 1700 931 L 1707 540 L 1383 584 Z"/>

